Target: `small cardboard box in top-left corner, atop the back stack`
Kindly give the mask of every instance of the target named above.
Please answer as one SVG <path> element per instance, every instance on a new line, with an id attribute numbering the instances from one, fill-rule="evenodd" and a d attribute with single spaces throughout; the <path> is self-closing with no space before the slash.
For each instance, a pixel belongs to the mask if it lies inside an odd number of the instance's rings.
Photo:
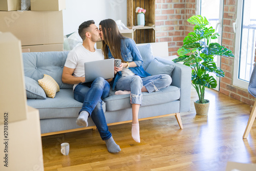
<path id="1" fill-rule="evenodd" d="M 0 0 L 0 11 L 21 10 L 21 0 Z"/>

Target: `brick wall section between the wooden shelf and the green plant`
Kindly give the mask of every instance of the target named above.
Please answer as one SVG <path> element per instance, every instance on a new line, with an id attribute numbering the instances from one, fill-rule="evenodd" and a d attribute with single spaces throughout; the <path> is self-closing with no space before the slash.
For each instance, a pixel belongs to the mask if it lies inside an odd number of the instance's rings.
<path id="1" fill-rule="evenodd" d="M 196 14 L 196 0 L 156 0 L 156 42 L 168 41 L 169 56 L 178 55 L 185 30 L 191 30 L 187 18 Z"/>

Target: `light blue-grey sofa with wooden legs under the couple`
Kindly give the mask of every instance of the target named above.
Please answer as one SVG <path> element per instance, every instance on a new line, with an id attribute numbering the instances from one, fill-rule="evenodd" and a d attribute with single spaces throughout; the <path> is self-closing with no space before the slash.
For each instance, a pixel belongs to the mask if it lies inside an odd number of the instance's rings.
<path id="1" fill-rule="evenodd" d="M 144 60 L 143 68 L 147 72 L 151 74 L 167 72 L 173 79 L 168 88 L 161 89 L 158 92 L 143 93 L 139 118 L 174 114 L 182 129 L 179 113 L 190 110 L 191 69 L 164 58 L 155 59 L 150 44 L 138 46 L 138 48 Z M 73 129 L 73 131 L 76 131 L 80 128 L 76 125 L 76 119 L 82 103 L 74 99 L 73 85 L 61 81 L 62 70 L 68 53 L 23 53 L 27 102 L 29 106 L 39 110 L 41 134 L 56 134 Z M 175 67 L 172 70 L 173 66 Z M 44 74 L 50 75 L 60 87 L 60 91 L 56 93 L 54 98 L 42 99 L 43 97 L 40 97 L 36 92 L 41 91 L 37 80 L 44 77 Z M 132 120 L 130 95 L 115 95 L 115 91 L 111 91 L 110 96 L 103 99 L 103 110 L 107 123 Z M 88 122 L 89 126 L 94 125 L 91 118 Z"/>

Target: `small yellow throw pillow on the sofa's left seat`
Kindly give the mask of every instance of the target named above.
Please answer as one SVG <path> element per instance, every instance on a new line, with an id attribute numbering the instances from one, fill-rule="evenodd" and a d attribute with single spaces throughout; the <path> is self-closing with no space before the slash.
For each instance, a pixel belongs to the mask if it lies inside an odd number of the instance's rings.
<path id="1" fill-rule="evenodd" d="M 50 75 L 44 74 L 44 78 L 38 79 L 38 83 L 44 89 L 47 97 L 54 98 L 59 91 L 58 83 Z"/>

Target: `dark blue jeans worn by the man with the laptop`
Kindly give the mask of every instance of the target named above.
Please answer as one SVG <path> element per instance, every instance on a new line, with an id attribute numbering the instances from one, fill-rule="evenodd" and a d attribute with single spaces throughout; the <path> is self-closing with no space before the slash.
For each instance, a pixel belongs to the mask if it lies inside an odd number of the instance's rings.
<path id="1" fill-rule="evenodd" d="M 83 103 L 80 112 L 87 111 L 89 113 L 89 117 L 92 117 L 102 140 L 107 140 L 112 136 L 106 124 L 101 100 L 108 97 L 109 92 L 109 82 L 101 77 L 96 78 L 91 83 L 79 83 L 74 90 L 75 100 Z"/>

